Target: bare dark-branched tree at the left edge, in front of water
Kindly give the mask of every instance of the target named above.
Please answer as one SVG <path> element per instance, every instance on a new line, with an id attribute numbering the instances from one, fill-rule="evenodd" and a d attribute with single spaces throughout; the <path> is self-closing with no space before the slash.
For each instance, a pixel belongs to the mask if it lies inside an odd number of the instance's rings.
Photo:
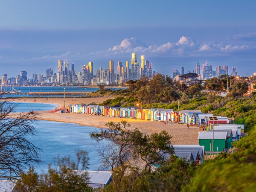
<path id="1" fill-rule="evenodd" d="M 35 135 L 35 113 L 12 113 L 15 105 L 0 102 L 0 177 L 15 179 L 30 163 L 39 163 L 40 150 L 27 140 Z"/>

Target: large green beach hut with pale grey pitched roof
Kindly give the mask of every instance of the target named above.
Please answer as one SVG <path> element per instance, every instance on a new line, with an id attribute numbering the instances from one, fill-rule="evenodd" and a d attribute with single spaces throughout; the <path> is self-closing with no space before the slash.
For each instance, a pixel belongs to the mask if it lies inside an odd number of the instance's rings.
<path id="1" fill-rule="evenodd" d="M 212 137 L 213 137 L 213 150 L 212 150 Z M 210 131 L 198 132 L 199 145 L 204 145 L 205 151 L 222 151 L 227 147 L 227 132 Z"/>

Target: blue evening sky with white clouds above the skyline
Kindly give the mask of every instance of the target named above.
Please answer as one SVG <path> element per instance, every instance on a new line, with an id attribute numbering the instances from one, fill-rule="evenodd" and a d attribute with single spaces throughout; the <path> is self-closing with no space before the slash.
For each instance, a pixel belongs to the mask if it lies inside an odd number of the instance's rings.
<path id="1" fill-rule="evenodd" d="M 137 53 L 172 77 L 197 62 L 256 72 L 256 1 L 0 0 L 0 75 L 57 72 L 58 60 L 93 70 Z M 1 74 L 2 73 L 2 74 Z M 115 72 L 116 73 L 116 72 Z"/>

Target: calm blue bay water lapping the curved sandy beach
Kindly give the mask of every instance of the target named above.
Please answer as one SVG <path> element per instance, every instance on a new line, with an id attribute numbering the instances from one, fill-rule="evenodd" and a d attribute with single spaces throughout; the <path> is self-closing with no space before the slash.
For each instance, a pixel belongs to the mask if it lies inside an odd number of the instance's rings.
<path id="1" fill-rule="evenodd" d="M 51 110 L 55 108 L 55 105 L 44 103 L 12 103 L 13 105 L 17 104 L 16 112 Z M 38 173 L 41 173 L 42 170 L 47 172 L 48 164 L 54 165 L 54 158 L 57 155 L 60 157 L 70 156 L 75 160 L 76 149 L 88 152 L 90 158 L 88 170 L 99 170 L 100 162 L 96 148 L 97 143 L 90 139 L 89 134 L 93 131 L 100 132 L 100 128 L 51 121 L 38 121 L 33 125 L 37 130 L 37 135 L 34 137 L 29 136 L 28 139 L 35 146 L 42 149 L 39 153 L 42 163 L 34 165 Z"/>

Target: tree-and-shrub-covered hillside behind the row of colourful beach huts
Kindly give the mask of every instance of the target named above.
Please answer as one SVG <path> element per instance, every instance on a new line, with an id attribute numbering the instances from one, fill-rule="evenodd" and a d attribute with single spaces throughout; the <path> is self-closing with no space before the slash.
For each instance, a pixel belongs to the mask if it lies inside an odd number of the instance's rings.
<path id="1" fill-rule="evenodd" d="M 187 86 L 191 75 L 184 76 L 180 82 L 172 81 L 169 76 L 157 74 L 153 79 L 143 77 L 137 81 L 127 81 L 126 90 L 101 89 L 91 96 L 110 96 L 101 105 L 132 107 L 142 103 L 143 108 L 165 108 L 174 111 L 200 109 L 203 113 L 213 113 L 227 116 L 236 124 L 244 124 L 245 131 L 249 131 L 256 123 L 256 96 L 247 93 L 246 81 L 235 81 L 229 88 L 227 96 L 220 96 L 220 92 L 227 86 L 226 78 L 212 78 L 204 82 L 195 81 Z M 195 78 L 194 76 L 191 76 Z M 232 79 L 232 77 L 230 77 Z M 189 79 L 188 82 L 190 82 Z M 207 90 L 201 92 L 202 90 Z"/>

